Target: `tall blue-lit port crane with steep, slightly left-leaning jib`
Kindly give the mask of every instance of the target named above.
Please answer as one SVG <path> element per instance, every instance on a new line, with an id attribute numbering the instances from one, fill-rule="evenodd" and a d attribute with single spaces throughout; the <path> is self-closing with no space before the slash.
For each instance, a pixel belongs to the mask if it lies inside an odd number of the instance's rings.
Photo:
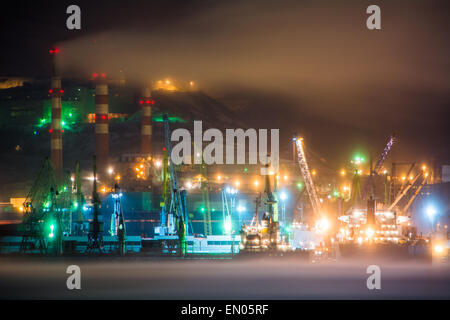
<path id="1" fill-rule="evenodd" d="M 166 201 L 164 211 L 165 213 L 173 212 L 175 214 L 176 229 L 178 235 L 178 253 L 181 256 L 186 254 L 186 221 L 188 219 L 187 206 L 186 206 L 186 190 L 180 190 L 178 185 L 177 170 L 175 163 L 171 157 L 172 155 L 172 142 L 170 141 L 170 126 L 169 116 L 163 115 L 164 121 L 164 140 L 165 148 L 168 157 L 168 172 L 170 174 L 171 182 L 171 201 L 170 204 Z"/>

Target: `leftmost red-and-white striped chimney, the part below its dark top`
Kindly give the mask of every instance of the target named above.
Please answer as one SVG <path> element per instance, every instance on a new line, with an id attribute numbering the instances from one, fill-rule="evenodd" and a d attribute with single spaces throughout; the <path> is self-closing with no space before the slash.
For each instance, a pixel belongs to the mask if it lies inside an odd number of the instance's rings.
<path id="1" fill-rule="evenodd" d="M 52 123 L 50 127 L 50 158 L 55 176 L 58 180 L 62 178 L 62 127 L 61 127 L 61 78 L 52 78 Z"/>

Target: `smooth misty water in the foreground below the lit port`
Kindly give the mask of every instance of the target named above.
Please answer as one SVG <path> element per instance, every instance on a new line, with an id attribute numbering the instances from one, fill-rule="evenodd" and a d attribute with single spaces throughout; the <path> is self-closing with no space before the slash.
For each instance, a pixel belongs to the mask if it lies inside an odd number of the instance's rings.
<path id="1" fill-rule="evenodd" d="M 68 290 L 66 268 L 81 268 Z M 369 265 L 381 289 L 369 290 Z M 0 258 L 1 299 L 411 299 L 450 298 L 450 267 L 427 262 L 296 258 Z"/>

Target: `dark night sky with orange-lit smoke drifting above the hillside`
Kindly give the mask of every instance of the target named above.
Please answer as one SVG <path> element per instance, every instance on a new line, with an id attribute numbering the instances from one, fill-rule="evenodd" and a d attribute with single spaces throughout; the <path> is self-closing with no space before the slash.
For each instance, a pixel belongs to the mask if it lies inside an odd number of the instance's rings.
<path id="1" fill-rule="evenodd" d="M 78 4 L 82 30 L 65 28 Z M 382 30 L 365 27 L 378 4 Z M 310 138 L 324 156 L 378 153 L 450 162 L 448 1 L 15 1 L 1 11 L 0 75 L 95 69 L 130 82 L 194 79 L 253 113 L 249 123 Z M 370 146 L 370 147 L 369 147 Z"/>

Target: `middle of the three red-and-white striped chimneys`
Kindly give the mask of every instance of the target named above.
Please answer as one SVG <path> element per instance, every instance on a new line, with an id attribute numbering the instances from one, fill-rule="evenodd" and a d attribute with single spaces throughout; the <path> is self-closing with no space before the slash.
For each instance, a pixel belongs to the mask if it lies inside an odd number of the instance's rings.
<path id="1" fill-rule="evenodd" d="M 99 173 L 109 162 L 108 84 L 104 73 L 94 73 L 95 87 L 95 154 Z"/>

